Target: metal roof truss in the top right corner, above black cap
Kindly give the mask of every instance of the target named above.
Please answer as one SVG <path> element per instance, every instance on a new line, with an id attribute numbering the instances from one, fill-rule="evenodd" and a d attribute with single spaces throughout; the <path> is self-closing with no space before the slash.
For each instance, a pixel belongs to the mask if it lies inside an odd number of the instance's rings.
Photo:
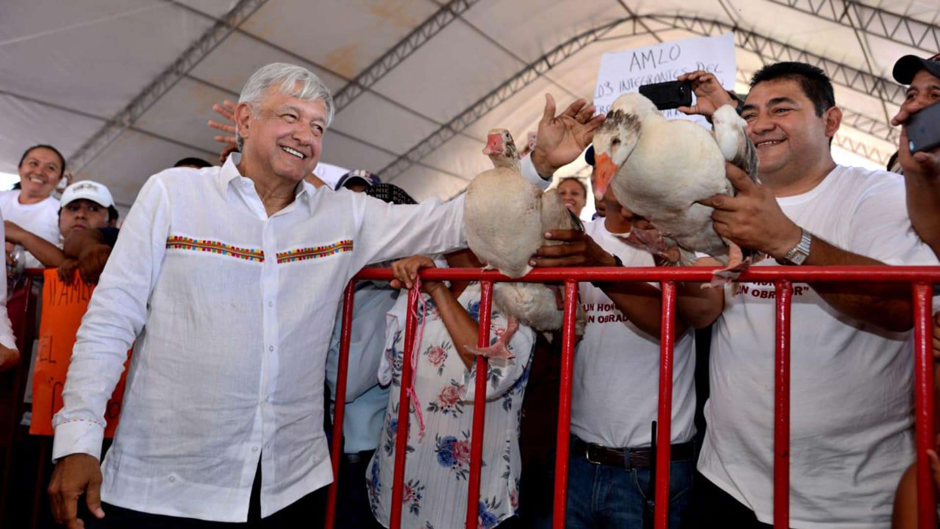
<path id="1" fill-rule="evenodd" d="M 852 0 L 768 0 L 928 54 L 940 50 L 940 26 Z M 853 19 L 850 17 L 852 10 Z"/>

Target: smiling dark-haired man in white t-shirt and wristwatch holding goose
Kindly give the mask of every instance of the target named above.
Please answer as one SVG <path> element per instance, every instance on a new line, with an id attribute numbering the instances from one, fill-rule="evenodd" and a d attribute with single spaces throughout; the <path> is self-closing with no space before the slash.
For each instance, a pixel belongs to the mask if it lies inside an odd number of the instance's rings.
<path id="1" fill-rule="evenodd" d="M 697 94 L 688 113 L 710 116 L 734 104 L 709 73 L 680 80 Z M 760 184 L 729 166 L 740 193 L 706 201 L 716 232 L 781 264 L 937 264 L 911 228 L 901 176 L 833 161 L 841 111 L 822 70 L 764 67 L 742 117 L 760 156 Z M 744 283 L 733 297 L 707 292 L 704 310 L 683 314 L 696 327 L 714 322 L 697 465 L 705 479 L 692 517 L 702 526 L 773 520 L 774 294 L 773 284 Z M 797 283 L 791 311 L 791 526 L 886 527 L 894 488 L 914 458 L 909 289 Z"/>

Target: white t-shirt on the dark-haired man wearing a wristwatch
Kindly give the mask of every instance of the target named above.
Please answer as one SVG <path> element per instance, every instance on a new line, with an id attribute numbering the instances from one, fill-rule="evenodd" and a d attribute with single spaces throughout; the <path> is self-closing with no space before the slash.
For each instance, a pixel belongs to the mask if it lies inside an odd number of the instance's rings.
<path id="1" fill-rule="evenodd" d="M 907 216 L 900 175 L 838 166 L 777 199 L 818 238 L 886 264 L 937 264 Z M 759 265 L 774 265 L 766 260 Z M 858 285 L 864 291 L 865 285 Z M 774 285 L 743 283 L 713 326 L 708 429 L 698 469 L 773 521 Z M 805 283 L 791 308 L 792 527 L 887 527 L 914 460 L 910 332 L 841 315 Z"/>

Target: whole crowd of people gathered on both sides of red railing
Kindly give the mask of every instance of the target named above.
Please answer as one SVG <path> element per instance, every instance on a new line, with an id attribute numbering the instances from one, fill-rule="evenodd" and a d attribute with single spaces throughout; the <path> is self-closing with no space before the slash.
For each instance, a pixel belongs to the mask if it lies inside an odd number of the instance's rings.
<path id="1" fill-rule="evenodd" d="M 737 189 L 716 195 L 716 232 L 769 256 L 756 265 L 940 264 L 940 152 L 910 152 L 905 123 L 940 101 L 940 56 L 904 56 L 898 164 L 839 166 L 830 152 L 841 111 L 816 67 L 771 64 L 739 104 L 707 72 L 680 77 L 697 95 L 687 114 L 736 106 L 760 157 L 760 182 L 728 165 Z M 343 398 L 337 527 L 387 527 L 398 394 L 415 379 L 401 508 L 406 527 L 462 527 L 476 377 L 478 284 L 420 281 L 429 267 L 481 267 L 466 248 L 463 197 L 417 203 L 381 175 L 353 170 L 336 185 L 313 175 L 334 115 L 316 74 L 285 63 L 247 80 L 226 120 L 220 165 L 180 160 L 143 186 L 118 231 L 103 184 L 55 197 L 66 160 L 24 152 L 21 187 L 0 193 L 7 271 L 57 267 L 97 283 L 55 415 L 49 485 L 56 521 L 76 527 L 317 526 L 333 479 L 324 423 Z M 584 100 L 558 113 L 546 97 L 521 173 L 546 189 L 603 122 Z M 592 175 L 593 178 L 594 175 Z M 576 216 L 587 185 L 557 183 Z M 533 266 L 652 266 L 631 246 L 649 228 L 610 190 L 584 230 L 555 230 Z M 363 266 L 395 280 L 355 287 L 350 370 L 337 395 L 345 285 Z M 720 264 L 700 256 L 697 266 Z M 4 281 L 6 287 L 6 281 Z M 499 285 L 496 285 L 499 288 Z M 408 296 L 419 289 L 421 348 L 405 344 Z M 6 299 L 0 293 L 0 298 Z M 673 366 L 670 527 L 765 527 L 773 521 L 774 285 L 679 285 Z M 566 527 L 650 526 L 658 403 L 661 293 L 643 282 L 583 282 L 576 345 Z M 938 313 L 940 314 L 940 313 Z M 551 526 L 526 487 L 520 432 L 540 333 L 493 310 L 511 336 L 488 360 L 479 527 Z M 796 285 L 791 309 L 791 525 L 913 527 L 912 310 L 906 286 Z M 696 442 L 696 329 L 711 329 L 707 426 Z M 557 341 L 556 341 L 557 342 Z M 133 345 L 114 444 L 102 458 L 104 407 Z M 476 351 L 479 352 L 479 351 Z M 0 318 L 0 369 L 19 357 Z M 324 406 L 325 398 L 325 406 Z M 541 432 L 554 438 L 554 432 Z M 931 452 L 940 483 L 940 460 Z M 534 475 L 534 474 L 530 474 Z M 544 485 L 544 484 L 542 484 Z M 84 499 L 80 499 L 84 496 Z"/>

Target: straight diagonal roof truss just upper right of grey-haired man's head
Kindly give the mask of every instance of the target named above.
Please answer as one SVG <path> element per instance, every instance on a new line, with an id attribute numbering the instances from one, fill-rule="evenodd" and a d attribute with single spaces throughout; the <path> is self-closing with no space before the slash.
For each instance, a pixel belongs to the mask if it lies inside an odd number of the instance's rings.
<path id="1" fill-rule="evenodd" d="M 406 58 L 441 32 L 447 24 L 457 20 L 464 11 L 472 8 L 479 0 L 450 0 L 445 6 L 434 12 L 427 20 L 415 27 L 399 43 L 380 56 L 366 70 L 359 73 L 345 87 L 340 88 L 333 96 L 337 114 L 340 110 L 352 103 L 364 91 L 381 80 L 386 73 L 391 72 Z"/>

